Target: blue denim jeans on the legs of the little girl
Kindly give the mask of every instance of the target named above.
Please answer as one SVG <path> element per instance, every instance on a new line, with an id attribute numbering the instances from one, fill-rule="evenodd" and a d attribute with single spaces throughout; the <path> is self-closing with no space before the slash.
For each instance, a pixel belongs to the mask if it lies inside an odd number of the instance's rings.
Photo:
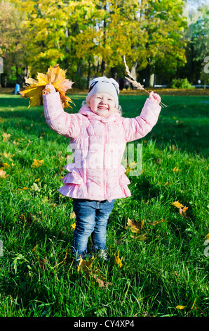
<path id="1" fill-rule="evenodd" d="M 87 254 L 88 238 L 91 236 L 94 251 L 106 247 L 106 228 L 109 215 L 114 207 L 114 200 L 109 202 L 88 199 L 73 199 L 76 214 L 76 228 L 73 235 L 72 255 L 74 258 L 85 257 Z"/>

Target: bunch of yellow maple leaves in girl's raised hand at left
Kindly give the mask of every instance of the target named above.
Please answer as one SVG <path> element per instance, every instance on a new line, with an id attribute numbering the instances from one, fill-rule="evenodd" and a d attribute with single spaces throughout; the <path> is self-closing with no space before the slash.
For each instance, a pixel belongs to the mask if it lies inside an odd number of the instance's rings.
<path id="1" fill-rule="evenodd" d="M 45 89 L 46 85 L 51 84 L 55 90 L 60 93 L 62 108 L 71 107 L 69 106 L 69 102 L 73 104 L 72 99 L 66 96 L 65 93 L 67 89 L 72 88 L 73 82 L 65 78 L 66 71 L 67 70 L 60 69 L 59 65 L 55 65 L 55 67 L 48 68 L 46 74 L 37 73 L 36 80 L 27 78 L 25 83 L 29 86 L 25 87 L 25 90 L 20 92 L 22 98 L 29 98 L 29 107 L 41 106 L 43 105 L 43 89 Z"/>

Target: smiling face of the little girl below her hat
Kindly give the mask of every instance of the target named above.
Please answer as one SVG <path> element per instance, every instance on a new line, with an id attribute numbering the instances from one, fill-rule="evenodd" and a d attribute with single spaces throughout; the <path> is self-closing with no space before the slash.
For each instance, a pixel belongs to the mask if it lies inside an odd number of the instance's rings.
<path id="1" fill-rule="evenodd" d="M 109 117 L 116 111 L 116 104 L 110 94 L 100 92 L 94 94 L 88 102 L 91 111 L 100 117 Z"/>

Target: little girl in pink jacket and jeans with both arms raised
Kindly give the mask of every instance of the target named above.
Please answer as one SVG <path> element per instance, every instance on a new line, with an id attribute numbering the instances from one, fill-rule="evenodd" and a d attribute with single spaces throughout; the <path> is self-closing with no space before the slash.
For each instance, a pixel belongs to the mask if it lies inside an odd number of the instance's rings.
<path id="1" fill-rule="evenodd" d="M 43 91 L 44 115 L 48 125 L 69 138 L 73 163 L 59 192 L 73 198 L 76 228 L 72 256 L 79 263 L 86 257 L 88 237 L 98 256 L 107 260 L 106 227 L 115 199 L 130 196 L 126 169 L 121 165 L 127 142 L 147 135 L 156 124 L 161 98 L 151 92 L 136 118 L 123 118 L 119 108 L 119 84 L 112 78 L 90 82 L 86 104 L 79 113 L 63 111 L 59 92 L 53 85 Z"/>

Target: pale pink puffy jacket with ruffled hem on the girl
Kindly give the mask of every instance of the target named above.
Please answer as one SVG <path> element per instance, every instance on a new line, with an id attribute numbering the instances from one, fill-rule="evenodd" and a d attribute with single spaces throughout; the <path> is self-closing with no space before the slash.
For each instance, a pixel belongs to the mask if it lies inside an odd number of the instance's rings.
<path id="1" fill-rule="evenodd" d="M 147 135 L 156 124 L 161 106 L 146 100 L 136 118 L 114 113 L 102 118 L 88 106 L 79 113 L 63 111 L 59 92 L 43 95 L 46 123 L 55 132 L 69 137 L 74 161 L 59 192 L 65 196 L 90 200 L 112 200 L 130 196 L 126 169 L 121 165 L 126 143 Z"/>

